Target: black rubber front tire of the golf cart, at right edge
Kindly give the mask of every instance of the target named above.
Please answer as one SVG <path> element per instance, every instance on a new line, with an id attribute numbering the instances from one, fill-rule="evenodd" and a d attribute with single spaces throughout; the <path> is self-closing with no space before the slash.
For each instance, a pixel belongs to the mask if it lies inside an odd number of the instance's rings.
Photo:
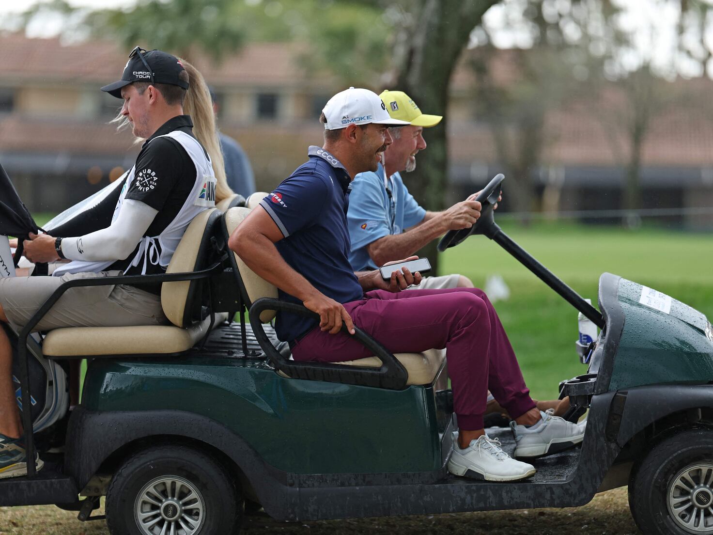
<path id="1" fill-rule="evenodd" d="M 713 429 L 685 429 L 663 439 L 632 470 L 629 506 L 642 533 L 647 535 L 702 535 L 687 531 L 669 512 L 669 487 L 682 469 L 713 463 Z M 713 476 L 713 474 L 712 474 Z M 708 484 L 707 486 L 711 486 Z M 706 493 L 708 494 L 708 493 Z M 706 499 L 709 499 L 707 496 Z"/>

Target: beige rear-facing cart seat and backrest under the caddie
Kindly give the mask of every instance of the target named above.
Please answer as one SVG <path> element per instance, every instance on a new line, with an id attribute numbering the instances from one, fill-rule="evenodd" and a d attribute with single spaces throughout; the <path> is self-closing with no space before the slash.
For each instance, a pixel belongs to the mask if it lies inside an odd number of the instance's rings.
<path id="1" fill-rule="evenodd" d="M 207 267 L 210 238 L 220 220 L 211 208 L 190 222 L 168 265 L 167 273 L 193 272 Z M 190 350 L 211 327 L 202 317 L 202 281 L 163 282 L 161 305 L 173 325 L 135 327 L 65 327 L 48 332 L 42 345 L 46 357 L 173 354 Z M 216 314 L 215 325 L 227 315 Z"/>

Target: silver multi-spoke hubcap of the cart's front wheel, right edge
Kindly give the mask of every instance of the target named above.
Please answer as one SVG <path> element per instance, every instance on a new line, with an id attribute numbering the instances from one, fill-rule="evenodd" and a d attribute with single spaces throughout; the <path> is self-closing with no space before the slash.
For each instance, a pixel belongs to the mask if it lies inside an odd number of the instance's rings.
<path id="1" fill-rule="evenodd" d="M 668 510 L 682 529 L 713 534 L 713 464 L 695 463 L 679 472 L 668 488 Z"/>

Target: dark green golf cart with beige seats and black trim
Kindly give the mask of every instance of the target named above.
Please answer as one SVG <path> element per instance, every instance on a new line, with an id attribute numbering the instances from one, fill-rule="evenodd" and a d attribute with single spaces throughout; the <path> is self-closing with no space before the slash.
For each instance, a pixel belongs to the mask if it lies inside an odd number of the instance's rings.
<path id="1" fill-rule="evenodd" d="M 565 507 L 628 485 L 643 533 L 713 534 L 711 324 L 609 273 L 599 311 L 588 305 L 496 225 L 502 179 L 481 193 L 478 224 L 448 233 L 439 247 L 486 235 L 601 328 L 583 355 L 588 373 L 561 385 L 571 417 L 589 411 L 580 448 L 535 460 L 537 473 L 524 481 L 448 474 L 457 423 L 444 352 L 391 355 L 358 330 L 374 357 L 291 360 L 270 322 L 276 310 L 312 312 L 278 300 L 227 249 L 250 211 L 233 207 L 196 218 L 165 275 L 68 282 L 19 333 L 26 429 L 37 405 L 56 399 L 38 402 L 39 390 L 64 388 L 37 387 L 33 362 L 63 370 L 88 359 L 88 369 L 81 404 L 26 433 L 45 467 L 0 480 L 0 506 L 57 504 L 88 520 L 106 496 L 112 535 L 225 535 L 260 507 L 284 521 Z M 163 282 L 173 325 L 29 335 L 68 287 L 148 279 Z M 488 433 L 513 451 L 509 431 Z"/>

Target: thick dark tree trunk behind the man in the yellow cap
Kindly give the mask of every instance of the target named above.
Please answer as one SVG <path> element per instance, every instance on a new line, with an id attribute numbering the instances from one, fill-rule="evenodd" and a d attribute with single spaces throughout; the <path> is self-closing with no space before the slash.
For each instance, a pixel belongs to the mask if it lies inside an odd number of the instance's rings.
<path id="1" fill-rule="evenodd" d="M 404 91 L 416 101 L 424 113 L 443 115 L 443 121 L 429 128 L 424 137 L 428 148 L 419 154 L 418 166 L 407 178 L 414 198 L 431 211 L 442 210 L 448 185 L 448 89 L 451 74 L 461 51 L 468 44 L 471 31 L 496 0 L 422 0 L 413 27 L 405 29 L 403 46 L 394 64 L 393 89 Z M 413 4 L 411 4 L 413 6 Z M 428 256 L 434 272 L 438 270 L 436 242 L 430 243 L 421 255 Z"/>

